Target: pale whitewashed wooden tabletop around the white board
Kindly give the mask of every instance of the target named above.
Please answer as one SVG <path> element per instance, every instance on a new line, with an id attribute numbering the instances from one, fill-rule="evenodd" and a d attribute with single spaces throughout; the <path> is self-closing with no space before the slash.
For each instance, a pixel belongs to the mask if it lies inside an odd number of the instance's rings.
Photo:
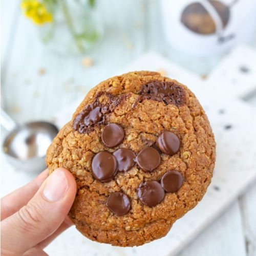
<path id="1" fill-rule="evenodd" d="M 197 73 L 211 62 L 179 58 L 164 40 L 158 1 L 99 1 L 105 36 L 97 49 L 82 56 L 58 56 L 41 45 L 37 30 L 19 10 L 19 1 L 1 2 L 2 107 L 18 122 L 51 120 L 86 88 L 108 78 L 140 54 L 154 50 Z M 85 68 L 89 56 L 95 65 Z M 38 71 L 43 68 L 45 74 Z M 3 170 L 8 171 L 8 170 Z M 2 181 L 5 182 L 5 181 Z M 20 184 L 13 184 L 15 186 Z M 3 196 L 3 195 L 2 195 Z M 256 255 L 256 184 L 194 240 L 180 255 Z"/>

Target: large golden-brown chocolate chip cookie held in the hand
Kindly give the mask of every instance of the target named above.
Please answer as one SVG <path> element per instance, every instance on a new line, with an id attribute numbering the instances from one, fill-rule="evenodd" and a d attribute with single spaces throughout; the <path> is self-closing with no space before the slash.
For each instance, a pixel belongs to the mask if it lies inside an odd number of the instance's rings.
<path id="1" fill-rule="evenodd" d="M 135 246 L 166 235 L 202 199 L 215 139 L 195 95 L 140 71 L 93 88 L 47 152 L 77 182 L 69 216 L 91 240 Z"/>

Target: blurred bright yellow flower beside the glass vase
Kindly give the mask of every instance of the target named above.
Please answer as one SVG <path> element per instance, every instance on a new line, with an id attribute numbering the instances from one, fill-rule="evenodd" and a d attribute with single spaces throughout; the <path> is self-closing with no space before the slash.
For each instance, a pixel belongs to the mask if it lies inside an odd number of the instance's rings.
<path id="1" fill-rule="evenodd" d="M 47 11 L 44 3 L 37 0 L 23 0 L 21 5 L 25 16 L 32 19 L 37 25 L 52 22 L 53 16 Z"/>

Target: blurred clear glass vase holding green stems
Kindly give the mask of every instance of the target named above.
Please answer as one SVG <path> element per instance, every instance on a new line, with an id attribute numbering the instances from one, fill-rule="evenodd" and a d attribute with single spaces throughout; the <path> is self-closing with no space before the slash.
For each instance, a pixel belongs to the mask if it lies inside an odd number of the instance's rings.
<path id="1" fill-rule="evenodd" d="M 39 27 L 41 41 L 59 54 L 89 51 L 103 35 L 95 1 L 49 0 L 53 21 Z"/>

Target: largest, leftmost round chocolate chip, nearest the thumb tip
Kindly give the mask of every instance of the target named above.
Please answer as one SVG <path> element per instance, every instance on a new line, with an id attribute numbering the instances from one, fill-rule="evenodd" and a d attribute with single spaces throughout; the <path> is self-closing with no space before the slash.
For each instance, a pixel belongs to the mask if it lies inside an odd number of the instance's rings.
<path id="1" fill-rule="evenodd" d="M 92 161 L 93 177 L 102 182 L 109 182 L 115 177 L 118 170 L 117 166 L 117 160 L 111 153 L 99 152 Z"/>

